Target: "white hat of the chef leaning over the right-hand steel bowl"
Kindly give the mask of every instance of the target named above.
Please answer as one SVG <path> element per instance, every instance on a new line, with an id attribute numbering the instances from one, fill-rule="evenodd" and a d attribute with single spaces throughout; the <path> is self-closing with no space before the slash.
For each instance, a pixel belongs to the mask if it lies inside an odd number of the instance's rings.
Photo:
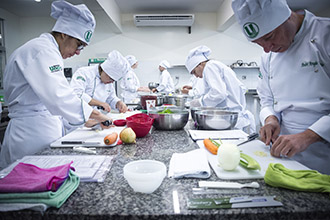
<path id="1" fill-rule="evenodd" d="M 211 52 L 211 49 L 204 45 L 190 50 L 185 63 L 189 73 L 191 73 L 191 71 L 193 71 L 193 69 L 195 69 L 195 67 L 201 62 L 209 60 Z"/>

